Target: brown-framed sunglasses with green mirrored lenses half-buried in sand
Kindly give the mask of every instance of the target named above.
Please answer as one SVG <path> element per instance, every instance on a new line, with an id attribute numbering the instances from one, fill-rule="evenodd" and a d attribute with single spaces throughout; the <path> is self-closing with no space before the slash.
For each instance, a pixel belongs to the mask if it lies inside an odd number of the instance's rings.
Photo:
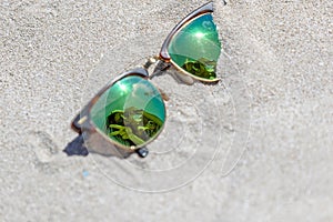
<path id="1" fill-rule="evenodd" d="M 189 84 L 219 81 L 215 70 L 221 43 L 212 12 L 212 2 L 194 10 L 173 28 L 158 57 L 120 74 L 81 110 L 71 127 L 90 151 L 119 158 L 148 155 L 147 144 L 163 130 L 168 100 L 150 80 L 170 67 Z M 150 74 L 148 69 L 157 61 Z"/>

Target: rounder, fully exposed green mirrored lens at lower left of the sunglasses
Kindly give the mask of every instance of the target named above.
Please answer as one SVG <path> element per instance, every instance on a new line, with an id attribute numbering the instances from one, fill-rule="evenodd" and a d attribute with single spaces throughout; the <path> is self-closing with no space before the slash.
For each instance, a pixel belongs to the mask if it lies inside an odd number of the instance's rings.
<path id="1" fill-rule="evenodd" d="M 155 138 L 165 121 L 159 90 L 148 80 L 130 75 L 117 81 L 91 109 L 92 122 L 113 141 L 137 147 Z"/>

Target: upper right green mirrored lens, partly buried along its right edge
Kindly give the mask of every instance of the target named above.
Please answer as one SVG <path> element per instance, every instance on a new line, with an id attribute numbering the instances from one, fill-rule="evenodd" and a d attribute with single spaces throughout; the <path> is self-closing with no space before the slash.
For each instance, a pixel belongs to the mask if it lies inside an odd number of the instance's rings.
<path id="1" fill-rule="evenodd" d="M 191 74 L 214 80 L 221 42 L 210 13 L 185 24 L 172 38 L 168 52 L 174 63 Z"/>

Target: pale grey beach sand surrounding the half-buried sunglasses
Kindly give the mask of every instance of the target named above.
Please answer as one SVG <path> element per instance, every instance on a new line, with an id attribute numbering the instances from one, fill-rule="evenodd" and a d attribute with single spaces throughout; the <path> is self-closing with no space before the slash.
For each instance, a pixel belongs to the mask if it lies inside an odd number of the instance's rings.
<path id="1" fill-rule="evenodd" d="M 147 159 L 63 152 L 203 3 L 0 2 L 0 221 L 333 221 L 332 1 L 215 1 L 221 81 L 153 80 L 170 101 Z"/>

